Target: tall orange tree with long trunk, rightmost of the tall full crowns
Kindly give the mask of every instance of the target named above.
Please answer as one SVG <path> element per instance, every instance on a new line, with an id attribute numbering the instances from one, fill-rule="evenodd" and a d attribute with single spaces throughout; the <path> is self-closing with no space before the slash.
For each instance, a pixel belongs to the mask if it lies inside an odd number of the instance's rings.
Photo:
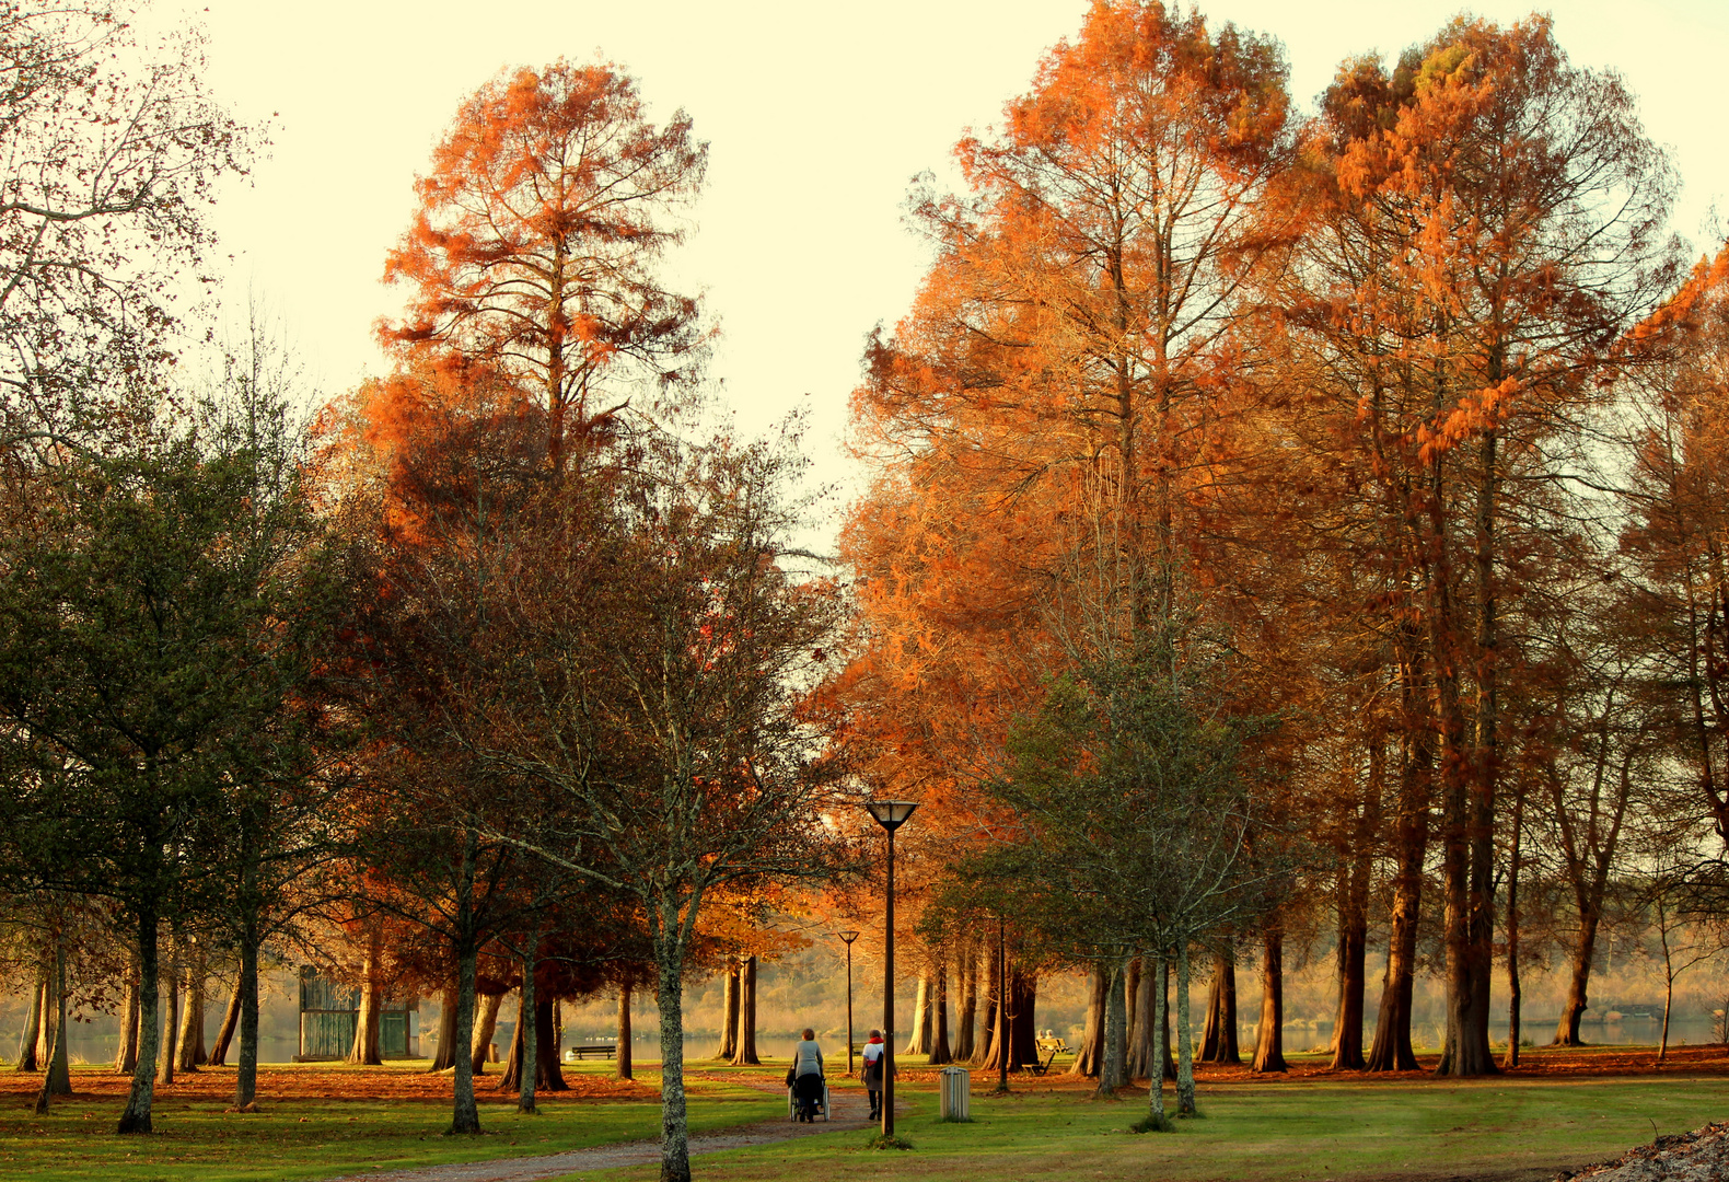
<path id="1" fill-rule="evenodd" d="M 1672 181 L 1620 81 L 1568 64 L 1544 17 L 1454 21 L 1394 71 L 1349 62 L 1312 149 L 1316 223 L 1283 304 L 1316 344 L 1307 372 L 1337 399 L 1357 489 L 1381 501 L 1418 847 L 1439 805 L 1440 1070 L 1478 1075 L 1504 696 L 1530 660 L 1508 622 L 1570 544 L 1579 416 L 1674 280 Z"/>

